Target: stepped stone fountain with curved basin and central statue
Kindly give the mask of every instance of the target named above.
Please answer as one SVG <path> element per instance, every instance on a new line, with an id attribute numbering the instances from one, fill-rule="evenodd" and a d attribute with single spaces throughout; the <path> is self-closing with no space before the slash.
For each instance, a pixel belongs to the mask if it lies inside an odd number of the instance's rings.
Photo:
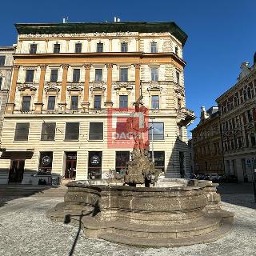
<path id="1" fill-rule="evenodd" d="M 135 112 L 143 112 L 141 102 L 136 104 Z M 150 161 L 149 143 L 141 137 L 146 128 L 134 129 L 132 122 L 128 118 L 135 143 L 123 178 L 130 186 L 70 182 L 64 202 L 47 216 L 54 221 L 80 222 L 89 238 L 131 246 L 187 246 L 225 236 L 234 214 L 222 210 L 218 184 L 175 179 L 167 187 L 150 187 L 159 173 Z M 136 186 L 144 183 L 146 187 Z"/>

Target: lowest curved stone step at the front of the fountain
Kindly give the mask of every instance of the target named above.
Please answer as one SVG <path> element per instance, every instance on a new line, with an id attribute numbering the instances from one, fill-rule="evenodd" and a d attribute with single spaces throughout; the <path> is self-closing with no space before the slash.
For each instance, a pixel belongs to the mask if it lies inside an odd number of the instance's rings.
<path id="1" fill-rule="evenodd" d="M 197 243 L 214 242 L 224 237 L 230 232 L 232 221 L 226 219 L 221 222 L 217 230 L 206 234 L 194 235 L 192 237 L 180 238 L 138 238 L 130 237 L 124 234 L 101 234 L 102 238 L 109 242 L 117 242 L 129 246 L 151 246 L 151 247 L 170 247 L 170 246 L 189 246 Z"/>

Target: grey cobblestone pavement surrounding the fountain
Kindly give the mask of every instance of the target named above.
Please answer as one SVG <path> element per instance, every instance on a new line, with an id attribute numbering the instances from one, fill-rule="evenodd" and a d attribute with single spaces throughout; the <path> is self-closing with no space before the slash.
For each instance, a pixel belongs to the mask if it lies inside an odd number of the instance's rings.
<path id="1" fill-rule="evenodd" d="M 73 255 L 211 256 L 256 255 L 256 210 L 253 194 L 223 194 L 223 209 L 234 211 L 234 229 L 225 238 L 208 244 L 173 248 L 121 246 L 79 234 Z M 2 200 L 4 201 L 4 200 Z M 78 227 L 51 222 L 46 210 L 62 198 L 27 197 L 0 207 L 0 255 L 69 255 Z"/>

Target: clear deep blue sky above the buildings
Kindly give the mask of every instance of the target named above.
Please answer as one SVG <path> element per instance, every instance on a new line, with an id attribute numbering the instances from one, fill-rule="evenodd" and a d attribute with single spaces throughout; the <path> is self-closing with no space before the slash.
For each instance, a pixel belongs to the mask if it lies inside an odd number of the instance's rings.
<path id="1" fill-rule="evenodd" d="M 128 0 L 128 1 L 2 1 L 0 45 L 16 42 L 15 22 L 174 21 L 188 34 L 183 51 L 186 106 L 200 116 L 200 107 L 233 86 L 242 62 L 256 51 L 256 1 Z M 189 126 L 191 130 L 198 123 Z"/>

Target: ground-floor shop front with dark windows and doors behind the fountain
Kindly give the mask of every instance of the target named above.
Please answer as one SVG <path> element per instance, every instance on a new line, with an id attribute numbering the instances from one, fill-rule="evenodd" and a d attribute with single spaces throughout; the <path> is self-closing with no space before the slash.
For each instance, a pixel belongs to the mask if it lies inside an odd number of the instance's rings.
<path id="1" fill-rule="evenodd" d="M 175 162 L 170 150 L 150 151 L 156 168 L 161 169 L 167 176 L 180 178 L 186 176 L 186 152 L 176 152 L 178 162 Z M 107 178 L 110 170 L 124 172 L 130 160 L 130 150 L 98 150 L 97 148 L 66 151 L 26 151 L 2 152 L 0 158 L 0 182 L 18 182 L 30 184 L 34 182 L 34 174 L 38 184 L 48 176 L 58 177 L 59 181 L 86 180 Z M 48 180 L 45 182 L 49 182 Z"/>

